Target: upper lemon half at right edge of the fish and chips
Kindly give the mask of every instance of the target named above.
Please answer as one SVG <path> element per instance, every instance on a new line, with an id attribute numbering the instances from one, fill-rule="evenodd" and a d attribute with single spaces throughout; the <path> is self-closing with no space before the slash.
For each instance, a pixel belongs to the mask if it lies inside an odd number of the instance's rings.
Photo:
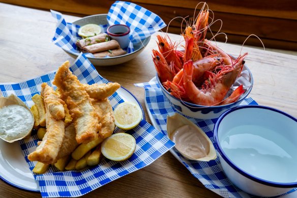
<path id="1" fill-rule="evenodd" d="M 133 102 L 123 102 L 114 109 L 114 124 L 121 129 L 136 127 L 142 119 L 140 107 Z"/>

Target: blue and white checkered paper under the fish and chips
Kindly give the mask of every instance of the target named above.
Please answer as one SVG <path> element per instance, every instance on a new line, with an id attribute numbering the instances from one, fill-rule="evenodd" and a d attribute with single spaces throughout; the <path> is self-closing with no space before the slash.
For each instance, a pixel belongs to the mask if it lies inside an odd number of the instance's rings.
<path id="1" fill-rule="evenodd" d="M 94 66 L 83 54 L 77 58 L 70 70 L 82 83 L 108 82 L 98 74 Z M 32 106 L 32 96 L 40 94 L 41 83 L 47 82 L 50 86 L 53 86 L 51 82 L 54 75 L 55 72 L 51 72 L 20 83 L 0 84 L 0 89 L 3 96 L 15 94 L 26 105 Z M 109 100 L 113 109 L 124 102 L 123 98 L 117 93 L 110 96 Z M 127 133 L 135 137 L 137 146 L 135 153 L 125 161 L 116 162 L 103 158 L 99 165 L 86 168 L 84 171 L 57 172 L 55 167 L 50 167 L 46 174 L 34 175 L 39 182 L 42 197 L 83 195 L 151 164 L 174 145 L 167 136 L 156 130 L 145 120 L 142 120 L 137 127 L 127 131 Z M 36 162 L 29 161 L 27 155 L 36 150 L 37 142 L 37 135 L 20 140 L 21 149 L 31 171 Z"/>

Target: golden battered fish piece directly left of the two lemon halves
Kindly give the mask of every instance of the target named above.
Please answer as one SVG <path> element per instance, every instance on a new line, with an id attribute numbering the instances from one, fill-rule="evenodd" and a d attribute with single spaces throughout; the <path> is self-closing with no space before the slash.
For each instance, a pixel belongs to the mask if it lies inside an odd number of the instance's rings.
<path id="1" fill-rule="evenodd" d="M 92 100 L 92 104 L 100 117 L 99 123 L 101 124 L 101 130 L 99 131 L 99 137 L 107 138 L 114 130 L 114 116 L 112 106 L 109 100 Z"/>

